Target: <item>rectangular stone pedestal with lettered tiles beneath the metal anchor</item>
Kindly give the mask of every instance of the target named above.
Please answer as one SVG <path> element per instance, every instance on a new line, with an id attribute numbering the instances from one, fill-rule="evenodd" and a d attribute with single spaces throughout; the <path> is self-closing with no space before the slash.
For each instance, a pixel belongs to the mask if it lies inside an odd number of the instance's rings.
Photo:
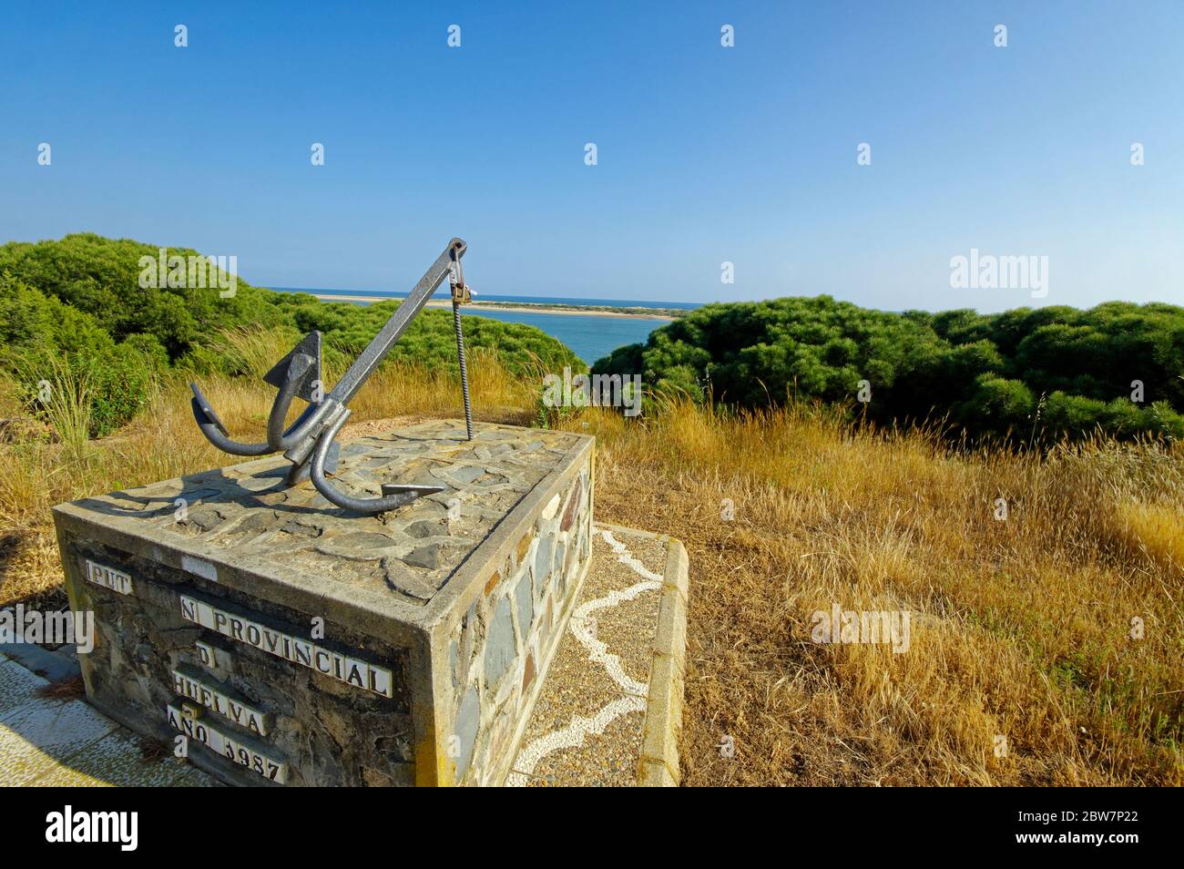
<path id="1" fill-rule="evenodd" d="M 591 555 L 593 439 L 430 421 L 54 508 L 89 700 L 239 785 L 501 784 Z"/>

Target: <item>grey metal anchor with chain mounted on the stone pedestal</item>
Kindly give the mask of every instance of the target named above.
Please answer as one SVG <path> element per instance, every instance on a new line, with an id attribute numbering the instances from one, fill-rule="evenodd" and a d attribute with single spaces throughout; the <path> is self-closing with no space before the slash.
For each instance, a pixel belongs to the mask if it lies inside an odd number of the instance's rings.
<path id="1" fill-rule="evenodd" d="M 246 444 L 230 438 L 226 426 L 214 413 L 210 401 L 198 388 L 189 384 L 193 391 L 193 417 L 198 427 L 214 446 L 232 456 L 268 456 L 283 452 L 284 458 L 292 463 L 285 482 L 297 485 L 311 479 L 316 490 L 329 503 L 354 513 L 374 514 L 393 510 L 411 503 L 422 495 L 444 491 L 443 485 L 400 485 L 384 483 L 381 497 L 353 497 L 337 490 L 328 479 L 337 466 L 340 448 L 337 433 L 349 419 L 349 400 L 358 394 L 362 385 L 374 373 L 379 363 L 391 352 L 403 336 L 411 321 L 424 309 L 436 289 L 449 278 L 452 289 L 452 326 L 456 331 L 456 348 L 461 362 L 461 391 L 464 398 L 464 424 L 468 439 L 472 440 L 472 408 L 469 403 L 469 372 L 464 360 L 464 334 L 461 330 L 461 305 L 470 301 L 472 291 L 464 283 L 464 271 L 461 257 L 466 245 L 459 238 L 449 242 L 444 252 L 437 257 L 431 268 L 419 278 L 419 283 L 407 294 L 407 298 L 391 315 L 378 335 L 366 346 L 348 371 L 324 394 L 321 385 L 321 333 L 314 329 L 305 335 L 291 353 L 276 362 L 263 380 L 275 386 L 279 392 L 268 416 L 268 439 L 260 444 Z M 308 403 L 308 407 L 288 429 L 284 419 L 294 398 Z"/>

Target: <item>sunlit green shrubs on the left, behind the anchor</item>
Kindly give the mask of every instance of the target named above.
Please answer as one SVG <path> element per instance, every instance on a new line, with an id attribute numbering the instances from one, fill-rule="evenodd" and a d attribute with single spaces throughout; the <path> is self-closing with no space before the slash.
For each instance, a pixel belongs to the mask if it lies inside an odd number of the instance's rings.
<path id="1" fill-rule="evenodd" d="M 242 278 L 233 296 L 223 296 L 213 281 L 197 288 L 188 278 L 188 288 L 157 279 L 161 287 L 144 289 L 141 258 L 159 256 L 155 246 L 92 233 L 0 245 L 0 366 L 31 412 L 51 416 L 39 384 L 60 381 L 85 405 L 90 434 L 105 434 L 147 404 L 168 371 L 259 376 L 311 329 L 324 333 L 326 363 L 341 371 L 399 305 L 326 303 Z M 198 255 L 172 247 L 166 262 L 169 256 Z M 567 347 L 529 326 L 465 316 L 464 330 L 466 346 L 495 350 L 520 375 L 565 365 L 586 369 Z M 451 314 L 423 311 L 388 359 L 455 369 Z"/>

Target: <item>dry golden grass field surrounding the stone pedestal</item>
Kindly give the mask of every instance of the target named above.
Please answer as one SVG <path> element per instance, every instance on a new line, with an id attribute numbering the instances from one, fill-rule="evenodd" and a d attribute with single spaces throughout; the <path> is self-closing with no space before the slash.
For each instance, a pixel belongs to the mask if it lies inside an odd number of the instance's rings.
<path id="1" fill-rule="evenodd" d="M 288 348 L 239 349 L 262 374 Z M 470 371 L 480 419 L 530 424 L 532 384 L 491 358 Z M 233 432 L 262 431 L 270 387 L 202 386 Z M 391 367 L 353 420 L 456 417 L 458 393 Z M 0 390 L 0 417 L 14 412 Z M 180 380 L 103 440 L 77 401 L 54 414 L 56 443 L 0 445 L 0 603 L 62 600 L 52 504 L 233 461 L 201 438 Z M 684 784 L 1184 783 L 1179 448 L 955 452 L 819 407 L 560 425 L 598 438 L 598 520 L 689 551 Z M 908 650 L 811 642 L 811 613 L 834 604 L 908 611 Z"/>

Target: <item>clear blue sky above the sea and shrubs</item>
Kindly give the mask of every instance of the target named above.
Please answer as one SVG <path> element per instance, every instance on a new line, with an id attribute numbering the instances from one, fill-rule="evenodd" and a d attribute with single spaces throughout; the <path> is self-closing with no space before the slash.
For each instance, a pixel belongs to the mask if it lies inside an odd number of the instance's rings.
<path id="1" fill-rule="evenodd" d="M 1178 0 L 8 2 L 0 83 L 0 240 L 274 287 L 404 290 L 456 234 L 488 294 L 1184 304 Z M 951 289 L 971 247 L 1048 256 L 1048 297 Z"/>

